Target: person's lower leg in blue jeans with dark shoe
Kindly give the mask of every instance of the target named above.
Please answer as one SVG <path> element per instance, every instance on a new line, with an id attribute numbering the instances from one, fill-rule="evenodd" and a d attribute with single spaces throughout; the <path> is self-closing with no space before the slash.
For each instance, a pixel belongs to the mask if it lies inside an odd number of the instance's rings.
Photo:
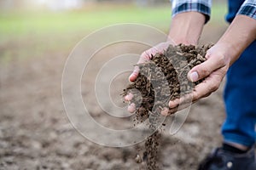
<path id="1" fill-rule="evenodd" d="M 224 90 L 224 144 L 201 161 L 198 170 L 256 169 L 253 144 L 256 122 L 256 41 L 227 74 Z"/>

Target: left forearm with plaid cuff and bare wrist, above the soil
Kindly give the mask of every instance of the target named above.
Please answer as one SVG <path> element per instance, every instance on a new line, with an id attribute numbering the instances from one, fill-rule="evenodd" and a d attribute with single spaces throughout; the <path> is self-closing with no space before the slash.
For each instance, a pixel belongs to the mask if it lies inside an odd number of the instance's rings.
<path id="1" fill-rule="evenodd" d="M 204 24 L 210 19 L 211 0 L 172 0 L 169 37 L 176 43 L 197 44 Z"/>

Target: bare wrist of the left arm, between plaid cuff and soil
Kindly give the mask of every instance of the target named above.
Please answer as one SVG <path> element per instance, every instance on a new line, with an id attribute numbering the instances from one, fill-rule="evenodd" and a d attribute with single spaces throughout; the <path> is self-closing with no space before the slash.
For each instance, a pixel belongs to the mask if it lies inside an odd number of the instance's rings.
<path id="1" fill-rule="evenodd" d="M 178 43 L 197 44 L 206 16 L 198 12 L 185 12 L 172 18 L 169 38 Z"/>

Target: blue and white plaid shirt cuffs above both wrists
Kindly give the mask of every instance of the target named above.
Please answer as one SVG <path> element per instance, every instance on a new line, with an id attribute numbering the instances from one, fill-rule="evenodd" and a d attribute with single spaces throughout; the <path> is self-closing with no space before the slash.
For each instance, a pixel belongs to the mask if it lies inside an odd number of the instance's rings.
<path id="1" fill-rule="evenodd" d="M 210 20 L 212 0 L 172 0 L 172 17 L 183 12 L 196 11 Z M 237 14 L 244 14 L 256 20 L 256 0 L 245 0 Z"/>

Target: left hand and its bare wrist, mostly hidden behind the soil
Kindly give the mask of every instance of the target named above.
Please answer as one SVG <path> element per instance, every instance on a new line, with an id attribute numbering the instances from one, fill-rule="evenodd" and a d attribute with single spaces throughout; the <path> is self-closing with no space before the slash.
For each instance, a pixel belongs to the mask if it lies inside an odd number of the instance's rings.
<path id="1" fill-rule="evenodd" d="M 197 44 L 198 39 L 201 35 L 202 28 L 205 24 L 205 21 L 206 21 L 205 14 L 201 14 L 194 11 L 175 15 L 172 18 L 172 24 L 170 26 L 170 31 L 168 34 L 168 37 L 172 37 L 168 39 L 170 41 L 162 42 L 157 46 L 155 46 L 154 48 L 150 48 L 147 51 L 145 51 L 141 55 L 137 64 L 143 63 L 151 59 L 152 55 L 156 53 L 163 52 L 164 49 L 168 48 L 170 44 L 172 45 L 177 45 L 178 43 L 183 43 L 186 45 Z M 136 66 L 134 71 L 131 73 L 129 80 L 131 82 L 134 82 L 137 79 L 138 73 L 139 73 L 139 69 Z M 130 103 L 132 98 L 133 98 L 132 94 L 128 94 L 125 96 L 125 100 L 129 101 Z M 136 105 L 134 103 L 131 103 L 128 106 L 128 111 L 130 111 L 131 113 L 136 111 Z M 169 110 L 169 108 L 163 108 L 162 115 L 168 114 L 168 112 L 170 111 L 172 111 L 172 109 Z M 173 112 L 175 111 L 176 111 L 176 108 L 174 107 Z"/>

